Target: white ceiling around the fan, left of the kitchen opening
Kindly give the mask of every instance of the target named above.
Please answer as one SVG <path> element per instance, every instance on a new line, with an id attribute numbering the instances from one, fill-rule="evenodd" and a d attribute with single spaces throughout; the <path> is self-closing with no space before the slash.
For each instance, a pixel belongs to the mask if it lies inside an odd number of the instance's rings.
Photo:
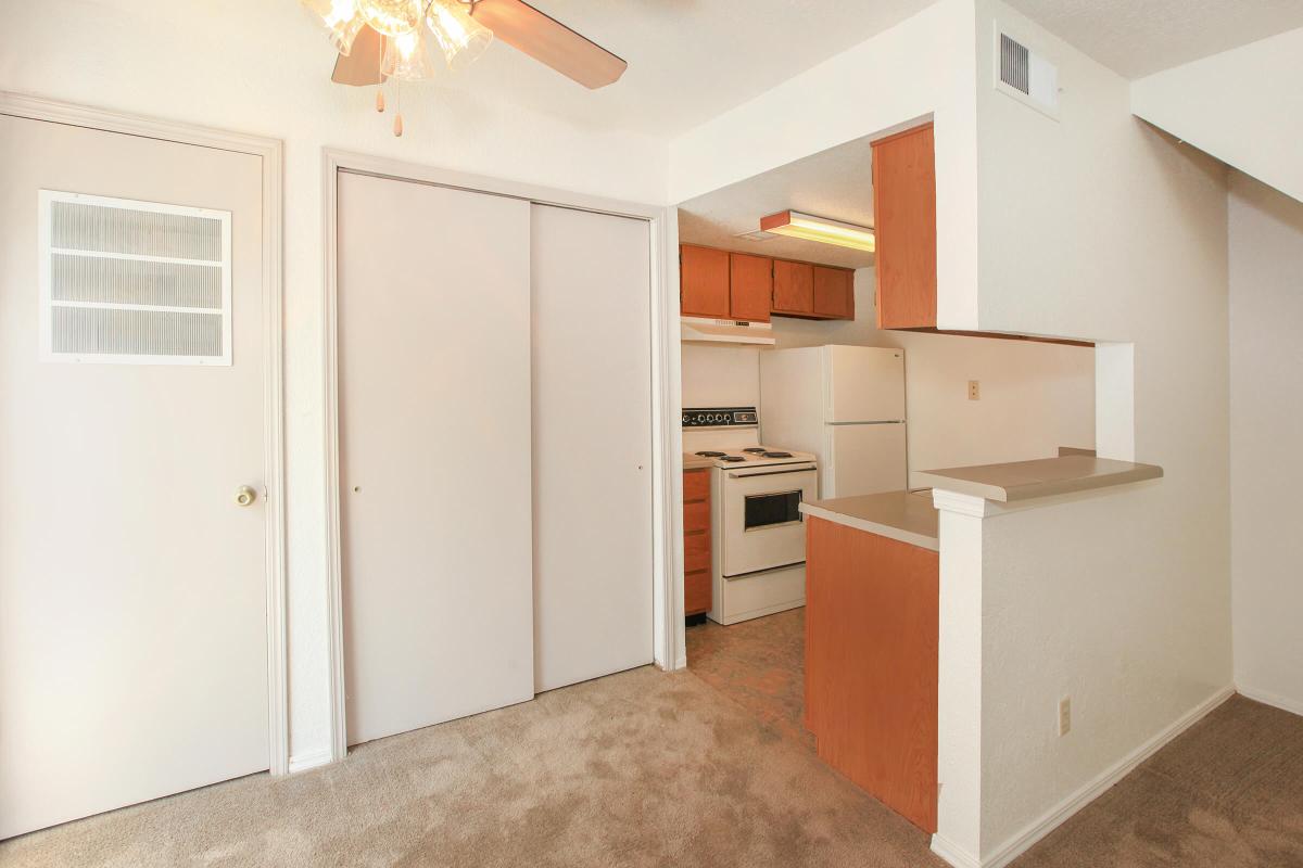
<path id="1" fill-rule="evenodd" d="M 580 126 L 674 135 L 934 1 L 532 0 L 627 60 L 628 72 L 590 91 L 498 43 L 469 69 L 427 87 L 483 90 Z M 321 46 L 322 74 L 330 75 L 334 55 L 324 39 Z"/>

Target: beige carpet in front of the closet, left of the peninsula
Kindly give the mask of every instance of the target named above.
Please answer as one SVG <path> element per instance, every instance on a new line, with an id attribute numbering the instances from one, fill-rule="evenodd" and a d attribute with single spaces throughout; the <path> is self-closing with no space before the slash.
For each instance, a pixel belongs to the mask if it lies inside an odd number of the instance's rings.
<path id="1" fill-rule="evenodd" d="M 691 673 L 637 669 L 0 845 L 0 864 L 942 865 Z"/>

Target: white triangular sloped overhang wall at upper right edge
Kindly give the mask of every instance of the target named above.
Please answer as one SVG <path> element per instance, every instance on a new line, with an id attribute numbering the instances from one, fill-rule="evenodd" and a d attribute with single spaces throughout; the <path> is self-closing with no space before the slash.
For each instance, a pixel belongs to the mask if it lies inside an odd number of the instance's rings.
<path id="1" fill-rule="evenodd" d="M 1303 199 L 1303 27 L 1131 83 L 1131 111 Z"/>

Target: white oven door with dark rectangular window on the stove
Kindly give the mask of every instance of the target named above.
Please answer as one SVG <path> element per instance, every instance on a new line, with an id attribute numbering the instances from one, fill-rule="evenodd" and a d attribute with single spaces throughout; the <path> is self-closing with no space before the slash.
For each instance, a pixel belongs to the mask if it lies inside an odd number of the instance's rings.
<path id="1" fill-rule="evenodd" d="M 723 575 L 726 578 L 805 561 L 800 505 L 814 500 L 812 463 L 723 471 Z"/>

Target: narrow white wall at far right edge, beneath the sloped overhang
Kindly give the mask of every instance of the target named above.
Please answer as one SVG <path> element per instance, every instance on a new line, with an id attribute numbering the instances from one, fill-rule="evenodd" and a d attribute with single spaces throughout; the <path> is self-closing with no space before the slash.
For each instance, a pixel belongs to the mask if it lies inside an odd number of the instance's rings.
<path id="1" fill-rule="evenodd" d="M 1230 183 L 1235 686 L 1303 714 L 1303 203 Z"/>

